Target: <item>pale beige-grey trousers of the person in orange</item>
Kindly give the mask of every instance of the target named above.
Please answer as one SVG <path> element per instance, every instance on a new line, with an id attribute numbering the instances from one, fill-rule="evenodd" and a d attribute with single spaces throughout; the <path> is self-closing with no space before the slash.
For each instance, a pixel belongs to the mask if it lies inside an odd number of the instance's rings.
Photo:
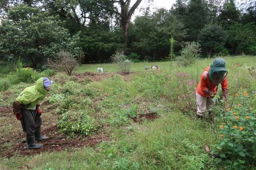
<path id="1" fill-rule="evenodd" d="M 200 96 L 198 93 L 196 93 L 197 115 L 203 116 L 205 111 L 209 111 L 209 109 L 212 108 L 214 104 L 215 102 L 213 101 L 213 98 Z"/>

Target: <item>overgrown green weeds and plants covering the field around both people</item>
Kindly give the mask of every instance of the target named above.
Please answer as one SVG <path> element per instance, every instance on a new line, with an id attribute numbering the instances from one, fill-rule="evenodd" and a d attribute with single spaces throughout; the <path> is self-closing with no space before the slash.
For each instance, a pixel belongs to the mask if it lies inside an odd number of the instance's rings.
<path id="1" fill-rule="evenodd" d="M 100 82 L 58 73 L 51 77 L 54 81 L 52 90 L 42 102 L 42 110 L 46 111 L 44 121 L 55 119 L 58 129 L 68 137 L 84 137 L 104 131 L 109 140 L 82 150 L 46 152 L 33 158 L 19 155 L 2 157 L 0 169 L 30 165 L 30 168 L 43 170 L 67 167 L 253 170 L 256 167 L 253 129 L 256 114 L 255 71 L 246 63 L 240 63 L 245 62 L 244 58 L 225 60 L 229 72 L 229 98 L 226 104 L 219 101 L 220 105 L 213 107 L 213 123 L 195 119 L 196 85 L 212 59 L 195 61 L 188 67 L 179 66 L 174 61 L 164 62 L 166 67 L 161 66 L 161 70 L 126 74 L 126 78 L 111 74 Z M 250 64 L 255 62 L 254 57 L 250 57 L 250 61 Z M 0 106 L 9 107 L 20 90 L 29 85 L 20 83 L 1 92 Z M 221 92 L 218 92 L 216 99 L 218 96 Z M 132 118 L 138 119 L 140 114 L 157 114 L 158 117 L 135 123 Z M 1 142 L 4 141 L 2 136 L 12 134 L 10 132 L 14 129 L 22 131 L 17 122 L 1 115 Z M 223 128 L 220 129 L 220 126 Z M 15 143 L 10 141 L 4 145 L 10 148 Z M 221 158 L 209 156 L 204 143 Z"/>

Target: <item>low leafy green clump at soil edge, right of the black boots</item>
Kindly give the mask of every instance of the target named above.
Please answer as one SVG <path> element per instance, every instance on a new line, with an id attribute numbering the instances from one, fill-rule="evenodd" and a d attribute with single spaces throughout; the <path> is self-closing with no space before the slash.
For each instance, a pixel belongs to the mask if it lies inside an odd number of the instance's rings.
<path id="1" fill-rule="evenodd" d="M 95 120 L 84 112 L 67 112 L 58 122 L 59 131 L 69 135 L 90 135 L 96 130 Z"/>

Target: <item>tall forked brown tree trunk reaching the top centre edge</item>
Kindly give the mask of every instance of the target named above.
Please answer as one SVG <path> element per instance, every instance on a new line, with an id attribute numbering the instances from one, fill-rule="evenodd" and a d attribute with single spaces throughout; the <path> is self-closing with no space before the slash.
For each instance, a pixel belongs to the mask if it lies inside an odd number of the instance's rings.
<path id="1" fill-rule="evenodd" d="M 134 11 L 136 10 L 136 8 L 139 6 L 140 2 L 142 0 L 136 0 L 135 4 L 132 6 L 132 8 L 130 8 L 130 2 L 131 0 L 120 0 L 120 1 L 116 1 L 120 3 L 121 6 L 121 23 L 122 23 L 122 34 L 124 35 L 124 42 L 125 42 L 125 47 L 127 47 L 127 38 L 128 38 L 128 29 L 130 26 L 130 21 L 131 21 L 131 17 L 132 14 L 134 13 Z"/>

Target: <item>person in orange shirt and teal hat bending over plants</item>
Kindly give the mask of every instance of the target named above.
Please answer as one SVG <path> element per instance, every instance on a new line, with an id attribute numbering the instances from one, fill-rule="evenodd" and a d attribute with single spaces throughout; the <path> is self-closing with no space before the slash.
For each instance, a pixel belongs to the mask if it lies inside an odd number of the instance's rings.
<path id="1" fill-rule="evenodd" d="M 221 84 L 222 98 L 224 101 L 228 98 L 228 70 L 224 59 L 214 59 L 201 74 L 200 83 L 196 88 L 196 117 L 203 118 L 205 111 L 209 111 L 215 104 L 214 95 L 217 93 L 218 84 Z M 209 112 L 210 114 L 210 112 Z"/>

